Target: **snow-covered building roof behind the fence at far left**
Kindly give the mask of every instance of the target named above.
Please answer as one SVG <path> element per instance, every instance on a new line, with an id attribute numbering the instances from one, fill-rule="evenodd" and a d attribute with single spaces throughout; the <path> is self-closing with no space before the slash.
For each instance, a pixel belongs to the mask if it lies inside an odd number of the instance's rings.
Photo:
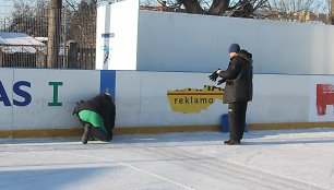
<path id="1" fill-rule="evenodd" d="M 0 48 L 5 54 L 36 54 L 45 51 L 46 45 L 25 33 L 0 32 Z"/>

